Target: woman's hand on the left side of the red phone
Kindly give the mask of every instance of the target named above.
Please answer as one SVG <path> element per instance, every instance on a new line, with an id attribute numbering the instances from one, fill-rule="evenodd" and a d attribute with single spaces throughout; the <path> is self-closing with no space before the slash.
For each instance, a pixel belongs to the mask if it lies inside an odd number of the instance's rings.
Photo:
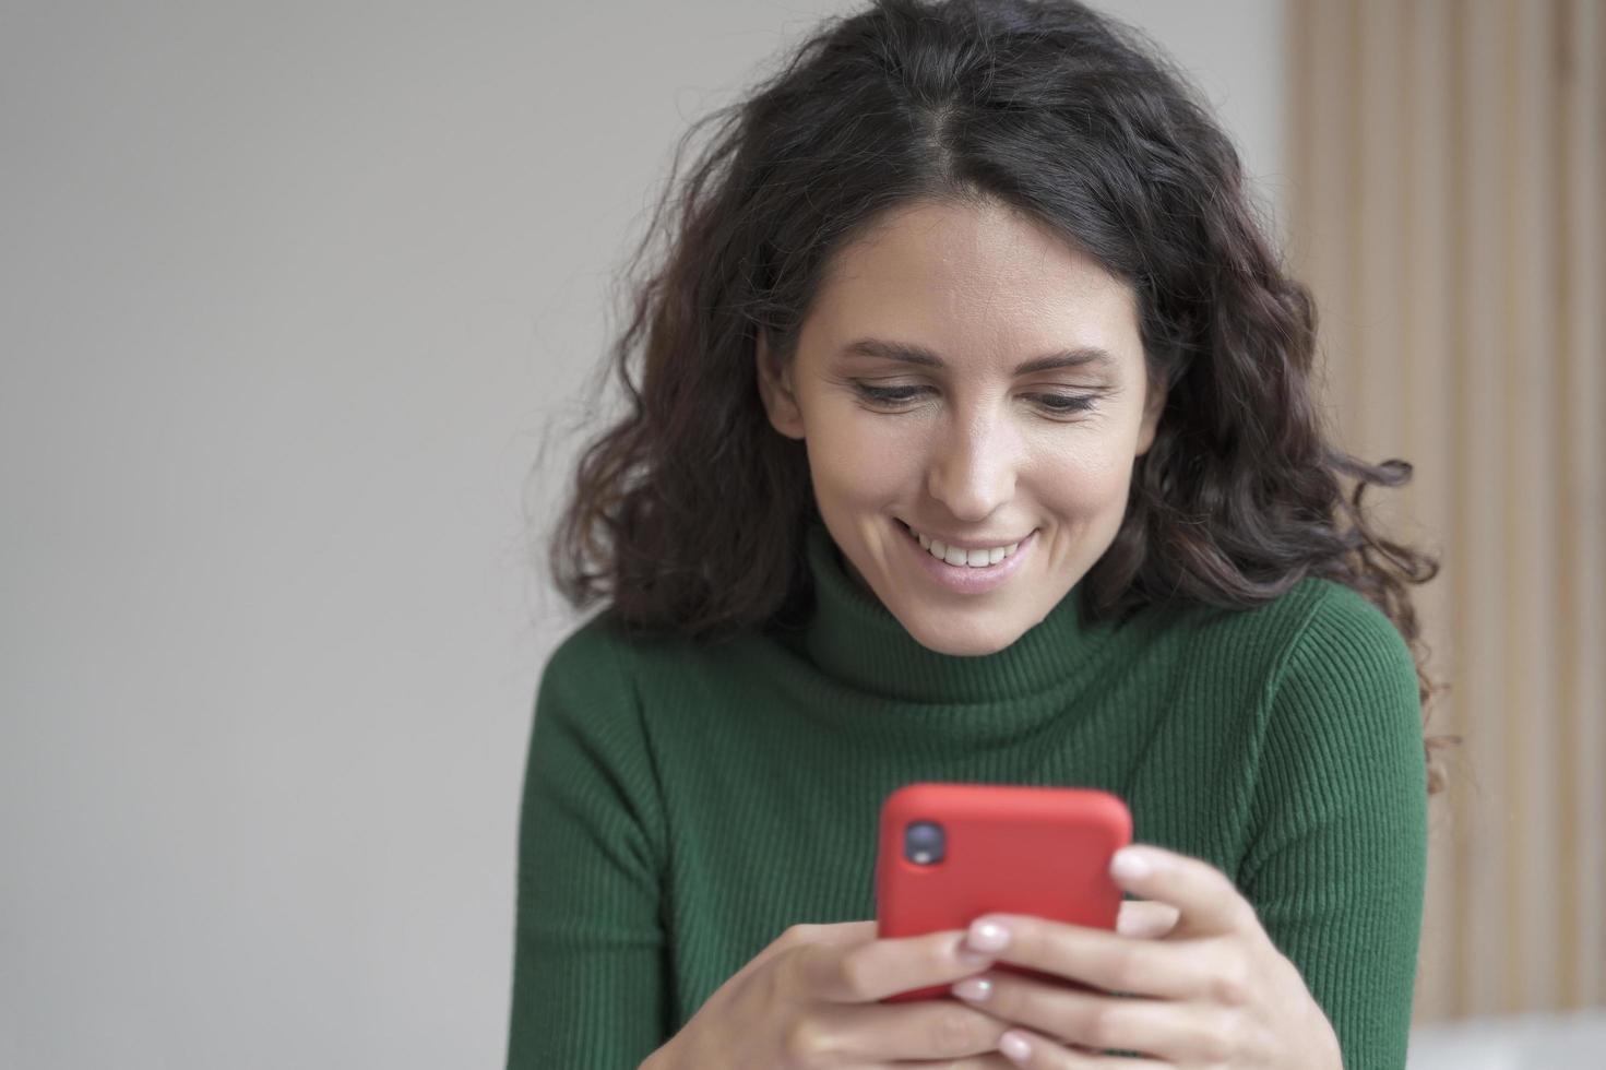
<path id="1" fill-rule="evenodd" d="M 1007 1022 L 954 998 L 880 1003 L 988 969 L 988 956 L 959 959 L 964 938 L 962 929 L 949 929 L 878 940 L 874 921 L 792 925 L 708 996 L 642 1070 L 1013 1067 L 997 1052 Z"/>

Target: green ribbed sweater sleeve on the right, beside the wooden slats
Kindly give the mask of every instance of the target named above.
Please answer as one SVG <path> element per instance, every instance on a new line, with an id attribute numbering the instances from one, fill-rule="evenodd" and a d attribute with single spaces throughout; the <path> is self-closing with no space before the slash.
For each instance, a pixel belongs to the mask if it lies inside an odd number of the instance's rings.
<path id="1" fill-rule="evenodd" d="M 1272 686 L 1240 887 L 1344 1067 L 1399 1070 L 1428 858 L 1415 662 L 1381 611 L 1333 585 Z"/>

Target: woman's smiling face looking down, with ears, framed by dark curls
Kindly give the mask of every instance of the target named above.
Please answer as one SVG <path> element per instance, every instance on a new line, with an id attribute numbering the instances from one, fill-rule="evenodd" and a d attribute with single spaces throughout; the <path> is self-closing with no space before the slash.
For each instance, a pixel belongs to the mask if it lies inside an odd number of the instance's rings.
<path id="1" fill-rule="evenodd" d="M 1001 206 L 890 215 L 758 370 L 848 570 L 944 654 L 1007 647 L 1099 561 L 1164 400 L 1131 288 Z"/>

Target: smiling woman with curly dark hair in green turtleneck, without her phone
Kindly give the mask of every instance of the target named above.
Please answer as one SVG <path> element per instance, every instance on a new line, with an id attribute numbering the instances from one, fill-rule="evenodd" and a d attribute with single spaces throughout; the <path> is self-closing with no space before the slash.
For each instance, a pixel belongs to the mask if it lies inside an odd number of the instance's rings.
<path id="1" fill-rule="evenodd" d="M 882 0 L 719 114 L 552 540 L 605 606 L 536 697 L 509 1067 L 1404 1065 L 1436 562 L 1229 140 L 1070 0 Z M 877 940 L 922 779 L 1124 798 L 1118 932 Z"/>

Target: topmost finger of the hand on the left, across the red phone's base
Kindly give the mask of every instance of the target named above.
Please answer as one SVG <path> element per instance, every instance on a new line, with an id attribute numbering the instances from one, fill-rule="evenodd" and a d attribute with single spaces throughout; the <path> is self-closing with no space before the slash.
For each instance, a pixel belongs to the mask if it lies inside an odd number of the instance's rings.
<path id="1" fill-rule="evenodd" d="M 996 956 L 964 948 L 965 930 L 887 937 L 856 946 L 808 943 L 797 948 L 795 969 L 806 991 L 830 1003 L 874 1003 L 941 985 L 986 969 Z"/>

